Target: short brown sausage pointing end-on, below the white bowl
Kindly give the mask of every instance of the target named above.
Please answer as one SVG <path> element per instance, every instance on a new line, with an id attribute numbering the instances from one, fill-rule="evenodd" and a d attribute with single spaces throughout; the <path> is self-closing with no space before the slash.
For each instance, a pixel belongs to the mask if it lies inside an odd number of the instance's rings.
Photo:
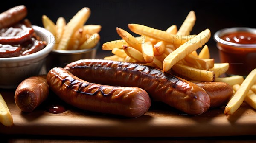
<path id="1" fill-rule="evenodd" d="M 23 112 L 32 112 L 49 95 L 46 75 L 32 76 L 22 81 L 15 91 L 15 103 Z"/>

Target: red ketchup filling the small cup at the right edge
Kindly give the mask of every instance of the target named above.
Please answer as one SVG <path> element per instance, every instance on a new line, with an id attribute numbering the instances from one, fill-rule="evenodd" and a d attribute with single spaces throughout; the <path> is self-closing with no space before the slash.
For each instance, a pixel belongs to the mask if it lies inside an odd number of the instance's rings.
<path id="1" fill-rule="evenodd" d="M 218 43 L 221 62 L 230 63 L 227 74 L 246 76 L 256 68 L 256 34 L 244 31 L 236 31 L 221 36 L 225 44 Z M 229 45 L 229 42 L 236 44 L 255 44 L 251 48 L 243 48 Z"/>

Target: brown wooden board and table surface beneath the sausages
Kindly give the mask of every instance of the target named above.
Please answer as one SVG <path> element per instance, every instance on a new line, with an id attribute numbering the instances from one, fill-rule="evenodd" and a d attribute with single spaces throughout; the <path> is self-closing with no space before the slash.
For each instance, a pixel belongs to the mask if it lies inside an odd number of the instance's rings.
<path id="1" fill-rule="evenodd" d="M 15 124 L 11 128 L 0 125 L 5 142 L 203 143 L 213 140 L 255 143 L 256 112 L 246 103 L 229 116 L 224 115 L 224 107 L 210 109 L 204 115 L 189 116 L 165 104 L 155 103 L 140 118 L 122 118 L 76 109 L 60 102 L 54 93 L 34 112 L 23 113 L 15 105 L 14 92 L 0 89 Z M 55 103 L 64 105 L 68 110 L 62 114 L 48 113 L 46 107 Z"/>

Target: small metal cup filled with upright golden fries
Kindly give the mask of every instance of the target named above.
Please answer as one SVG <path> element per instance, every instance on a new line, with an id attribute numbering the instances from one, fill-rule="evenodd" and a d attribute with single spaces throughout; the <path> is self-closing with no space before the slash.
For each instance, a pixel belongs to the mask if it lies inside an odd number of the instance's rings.
<path id="1" fill-rule="evenodd" d="M 70 62 L 79 59 L 94 59 L 99 47 L 100 25 L 84 25 L 90 17 L 90 8 L 84 7 L 66 24 L 63 17 L 59 17 L 56 24 L 43 15 L 44 28 L 49 30 L 55 38 L 54 49 L 46 62 L 47 70 L 53 67 L 65 67 Z"/>

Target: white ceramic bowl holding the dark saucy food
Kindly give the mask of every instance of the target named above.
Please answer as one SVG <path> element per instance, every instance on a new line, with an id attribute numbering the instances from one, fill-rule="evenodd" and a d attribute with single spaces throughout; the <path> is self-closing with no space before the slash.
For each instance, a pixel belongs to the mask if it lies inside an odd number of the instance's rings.
<path id="1" fill-rule="evenodd" d="M 16 88 L 24 79 L 38 75 L 53 48 L 53 35 L 44 28 L 32 25 L 35 33 L 47 46 L 26 56 L 0 58 L 0 88 Z"/>

